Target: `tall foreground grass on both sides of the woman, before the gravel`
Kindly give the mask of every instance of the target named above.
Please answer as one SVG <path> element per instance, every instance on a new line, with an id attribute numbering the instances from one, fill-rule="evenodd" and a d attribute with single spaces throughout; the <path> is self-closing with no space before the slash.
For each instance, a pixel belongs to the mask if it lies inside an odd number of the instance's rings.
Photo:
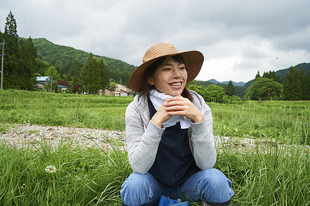
<path id="1" fill-rule="evenodd" d="M 22 149 L 2 144 L 0 205 L 120 205 L 120 187 L 132 170 L 122 144 L 110 144 L 110 150 L 76 148 L 72 141 L 52 148 L 44 137 Z M 52 188 L 47 165 L 57 168 Z M 233 205 L 309 205 L 309 165 L 303 146 L 224 147 L 215 168 L 232 180 Z"/>

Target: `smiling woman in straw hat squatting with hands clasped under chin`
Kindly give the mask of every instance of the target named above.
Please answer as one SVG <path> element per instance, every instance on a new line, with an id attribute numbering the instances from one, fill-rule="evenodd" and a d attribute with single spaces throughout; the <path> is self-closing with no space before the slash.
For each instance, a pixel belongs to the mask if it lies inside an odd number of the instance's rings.
<path id="1" fill-rule="evenodd" d="M 216 169 L 210 107 L 185 88 L 203 64 L 197 51 L 159 43 L 129 78 L 139 93 L 126 109 L 126 144 L 133 174 L 122 185 L 123 205 L 157 205 L 161 196 L 230 205 L 231 181 Z"/>

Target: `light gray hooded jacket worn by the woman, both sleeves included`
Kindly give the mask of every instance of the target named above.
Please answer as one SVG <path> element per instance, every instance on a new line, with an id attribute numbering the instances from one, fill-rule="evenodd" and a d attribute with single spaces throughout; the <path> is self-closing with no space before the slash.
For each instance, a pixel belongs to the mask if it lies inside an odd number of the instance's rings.
<path id="1" fill-rule="evenodd" d="M 190 90 L 190 94 L 194 105 L 203 113 L 203 121 L 198 124 L 191 123 L 188 128 L 190 150 L 197 166 L 201 170 L 206 170 L 212 168 L 217 160 L 212 131 L 212 113 L 198 93 Z M 126 108 L 125 122 L 129 163 L 133 172 L 145 174 L 155 161 L 165 128 L 159 128 L 151 122 L 147 98 L 143 98 L 142 92 L 136 95 Z"/>

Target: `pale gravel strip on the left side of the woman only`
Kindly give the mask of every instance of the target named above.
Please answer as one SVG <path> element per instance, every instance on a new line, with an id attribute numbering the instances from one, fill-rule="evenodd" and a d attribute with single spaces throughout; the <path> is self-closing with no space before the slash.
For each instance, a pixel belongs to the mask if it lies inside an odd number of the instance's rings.
<path id="1" fill-rule="evenodd" d="M 0 133 L 0 143 L 12 144 L 17 148 L 37 144 L 43 139 L 52 146 L 57 146 L 63 141 L 64 143 L 72 142 L 73 146 L 79 146 L 80 148 L 89 148 L 96 146 L 96 144 L 101 148 L 109 148 L 110 145 L 107 139 L 119 141 L 125 139 L 124 131 L 115 130 L 34 124 L 0 124 L 0 126 L 5 128 Z"/>

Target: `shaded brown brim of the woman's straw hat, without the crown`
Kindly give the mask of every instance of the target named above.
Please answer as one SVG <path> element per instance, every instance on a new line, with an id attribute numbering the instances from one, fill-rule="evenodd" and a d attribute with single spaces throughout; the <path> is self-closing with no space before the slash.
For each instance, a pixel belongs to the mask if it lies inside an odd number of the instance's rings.
<path id="1" fill-rule="evenodd" d="M 203 65 L 204 57 L 203 54 L 201 54 L 201 52 L 199 51 L 188 51 L 188 52 L 179 52 L 176 54 L 159 56 L 157 58 L 144 62 L 142 65 L 137 67 L 137 69 L 135 69 L 133 73 L 131 73 L 131 76 L 129 77 L 128 80 L 129 87 L 135 92 L 143 91 L 144 88 L 143 76 L 146 69 L 148 69 L 148 67 L 150 67 L 153 64 L 153 62 L 155 62 L 159 58 L 176 56 L 178 54 L 181 54 L 181 56 L 184 58 L 184 62 L 186 65 L 186 71 L 188 73 L 188 79 L 186 83 L 189 83 L 192 80 L 194 80 L 197 77 Z"/>

